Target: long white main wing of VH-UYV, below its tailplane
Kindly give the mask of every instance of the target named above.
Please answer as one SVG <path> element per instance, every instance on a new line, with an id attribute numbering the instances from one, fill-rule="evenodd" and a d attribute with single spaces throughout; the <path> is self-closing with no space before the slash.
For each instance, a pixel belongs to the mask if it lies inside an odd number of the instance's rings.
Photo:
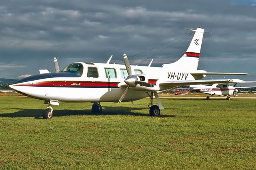
<path id="1" fill-rule="evenodd" d="M 243 81 L 240 79 L 215 79 L 215 80 L 176 80 L 166 81 L 159 85 L 163 88 L 172 88 L 180 85 L 200 85 L 200 84 L 227 84 L 227 83 L 256 83 L 256 81 Z"/>

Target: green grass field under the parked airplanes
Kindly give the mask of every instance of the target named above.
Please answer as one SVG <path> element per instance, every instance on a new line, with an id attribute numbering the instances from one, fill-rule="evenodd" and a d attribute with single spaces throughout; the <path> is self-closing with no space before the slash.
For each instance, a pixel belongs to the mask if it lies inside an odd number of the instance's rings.
<path id="1" fill-rule="evenodd" d="M 256 99 L 149 99 L 46 105 L 28 97 L 0 97 L 0 169 L 254 169 Z"/>

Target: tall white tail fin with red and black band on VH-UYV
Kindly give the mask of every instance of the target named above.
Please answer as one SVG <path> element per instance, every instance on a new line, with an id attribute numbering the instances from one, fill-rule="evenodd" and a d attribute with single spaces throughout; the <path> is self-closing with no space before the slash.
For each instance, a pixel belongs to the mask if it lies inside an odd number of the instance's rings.
<path id="1" fill-rule="evenodd" d="M 199 55 L 204 36 L 204 29 L 197 28 L 190 42 L 190 45 L 184 55 L 176 62 L 164 64 L 163 67 L 168 67 L 176 70 L 197 70 Z"/>

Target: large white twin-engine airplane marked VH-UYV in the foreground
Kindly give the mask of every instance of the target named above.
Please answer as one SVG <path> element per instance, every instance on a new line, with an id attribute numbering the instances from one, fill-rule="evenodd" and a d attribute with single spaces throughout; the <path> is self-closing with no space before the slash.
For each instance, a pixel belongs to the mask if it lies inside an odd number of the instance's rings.
<path id="1" fill-rule="evenodd" d="M 206 83 L 238 83 L 238 79 L 198 80 L 206 75 L 248 75 L 246 73 L 209 73 L 198 70 L 198 60 L 204 29 L 197 28 L 186 53 L 176 62 L 162 67 L 130 65 L 124 54 L 125 65 L 107 63 L 76 62 L 56 73 L 40 70 L 39 75 L 20 79 L 10 85 L 12 89 L 35 99 L 44 100 L 48 107 L 44 119 L 52 118 L 52 105 L 59 102 L 92 102 L 92 113 L 100 113 L 101 102 L 121 103 L 150 97 L 149 113 L 160 115 L 161 105 L 158 92 L 180 85 Z M 59 72 L 58 72 L 59 71 Z M 153 105 L 153 94 L 158 105 Z"/>

